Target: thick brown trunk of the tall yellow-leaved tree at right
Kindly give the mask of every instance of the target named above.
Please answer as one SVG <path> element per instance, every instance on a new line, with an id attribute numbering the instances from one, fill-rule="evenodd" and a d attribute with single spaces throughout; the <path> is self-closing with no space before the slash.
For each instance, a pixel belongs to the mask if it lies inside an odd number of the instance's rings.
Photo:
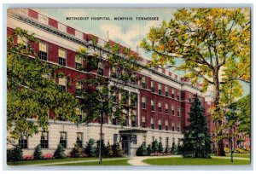
<path id="1" fill-rule="evenodd" d="M 222 119 L 221 118 L 221 110 L 220 110 L 220 106 L 219 106 L 219 97 L 220 97 L 220 93 L 219 93 L 219 77 L 218 77 L 218 71 L 219 69 L 216 69 L 215 71 L 213 71 L 213 84 L 214 84 L 214 114 L 215 115 L 215 128 L 218 129 L 219 126 L 221 126 L 222 124 Z M 219 118 L 220 117 L 220 118 Z M 222 136 L 222 131 L 218 131 L 216 136 Z M 223 145 L 223 140 L 220 140 L 217 142 L 217 151 L 216 151 L 216 155 L 218 156 L 225 156 L 224 153 L 224 145 Z"/>

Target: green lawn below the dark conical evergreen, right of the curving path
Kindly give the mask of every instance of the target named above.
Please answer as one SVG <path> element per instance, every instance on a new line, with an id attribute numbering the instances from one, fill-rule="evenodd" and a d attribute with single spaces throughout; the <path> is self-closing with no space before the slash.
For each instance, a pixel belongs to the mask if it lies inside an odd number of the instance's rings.
<path id="1" fill-rule="evenodd" d="M 175 158 L 157 158 L 144 159 L 143 162 L 150 165 L 249 165 L 250 160 L 234 159 L 231 163 L 230 159 L 183 159 L 181 157 Z"/>

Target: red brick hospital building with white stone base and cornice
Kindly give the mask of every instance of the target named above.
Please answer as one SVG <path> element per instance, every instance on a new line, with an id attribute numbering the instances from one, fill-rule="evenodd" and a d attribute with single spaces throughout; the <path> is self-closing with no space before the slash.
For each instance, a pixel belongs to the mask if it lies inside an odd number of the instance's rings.
<path id="1" fill-rule="evenodd" d="M 76 59 L 79 47 L 86 47 L 90 55 L 97 51 L 92 49 L 93 38 L 96 39 L 98 48 L 103 48 L 106 44 L 101 38 L 80 32 L 32 9 L 9 9 L 7 26 L 8 35 L 16 27 L 35 33 L 39 43 L 32 43 L 32 47 L 42 61 L 63 66 L 61 72 L 71 78 L 89 78 L 88 73 L 78 68 L 78 64 L 83 64 Z M 114 44 L 113 41 L 111 43 Z M 121 45 L 121 50 L 124 48 Z M 106 54 L 103 51 L 103 58 L 107 56 Z M 142 71 L 137 73 L 139 80 L 136 84 L 125 87 L 130 96 L 137 95 L 137 106 L 134 109 L 137 117 L 128 119 L 124 127 L 119 126 L 113 119 L 105 117 L 103 124 L 105 142 L 110 144 L 120 142 L 126 155 L 134 155 L 143 142 L 148 144 L 158 140 L 162 142 L 164 148 L 172 146 L 172 142 L 179 143 L 179 139 L 183 137 L 184 127 L 189 124 L 187 119 L 194 94 L 200 97 L 201 104 L 206 110 L 210 130 L 214 130 L 214 124 L 208 113 L 208 108 L 212 106 L 212 97 L 207 93 L 202 94 L 200 85 L 192 86 L 188 80 L 164 68 L 145 67 L 148 61 L 140 57 L 137 52 L 131 51 L 131 54 L 139 57 L 139 64 L 143 67 Z M 124 55 L 120 54 L 120 56 Z M 107 61 L 102 64 L 102 75 L 109 78 L 111 70 L 107 65 Z M 93 75 L 96 74 L 90 73 L 90 76 Z M 67 92 L 77 96 L 76 90 L 80 87 L 75 82 L 67 85 L 68 80 L 61 78 L 56 83 L 63 85 Z M 82 116 L 84 114 L 82 111 L 78 113 Z M 74 125 L 67 121 L 53 121 L 53 114 L 49 114 L 49 117 L 49 132 L 39 133 L 20 141 L 24 154 L 32 154 L 39 143 L 45 144 L 44 153 L 53 153 L 60 140 L 68 152 L 78 141 L 84 147 L 85 142 L 90 138 L 99 139 L 100 127 L 97 122 L 89 125 Z"/>

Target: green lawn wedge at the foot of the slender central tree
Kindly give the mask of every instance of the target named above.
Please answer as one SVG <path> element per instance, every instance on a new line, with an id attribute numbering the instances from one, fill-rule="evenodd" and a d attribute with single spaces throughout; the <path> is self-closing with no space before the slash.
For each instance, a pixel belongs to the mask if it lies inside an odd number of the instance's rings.
<path id="1" fill-rule="evenodd" d="M 119 160 L 102 160 L 101 165 L 130 165 L 127 163 L 129 159 L 119 159 Z M 82 162 L 82 163 L 69 163 L 69 164 L 61 164 L 61 165 L 99 165 L 99 162 Z"/>

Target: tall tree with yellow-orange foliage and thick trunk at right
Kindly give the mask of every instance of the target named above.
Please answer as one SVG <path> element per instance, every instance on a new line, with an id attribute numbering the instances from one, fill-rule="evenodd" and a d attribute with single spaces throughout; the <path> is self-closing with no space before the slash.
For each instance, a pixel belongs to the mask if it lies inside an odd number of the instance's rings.
<path id="1" fill-rule="evenodd" d="M 151 27 L 140 46 L 152 54 L 151 67 L 174 67 L 185 72 L 192 84 L 211 85 L 214 92 L 212 119 L 217 130 L 217 154 L 224 155 L 222 131 L 224 117 L 220 89 L 231 81 L 250 83 L 249 9 L 178 9 L 169 22 Z M 181 63 L 177 63 L 181 62 Z"/>

